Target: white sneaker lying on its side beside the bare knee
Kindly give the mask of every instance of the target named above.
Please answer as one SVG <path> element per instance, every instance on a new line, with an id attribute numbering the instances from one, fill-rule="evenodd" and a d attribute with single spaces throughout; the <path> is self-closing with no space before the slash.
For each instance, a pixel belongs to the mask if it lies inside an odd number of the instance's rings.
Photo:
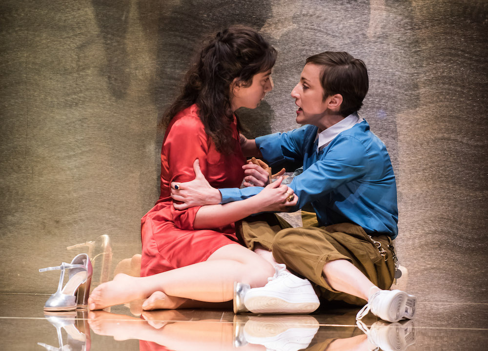
<path id="1" fill-rule="evenodd" d="M 244 305 L 254 313 L 310 313 L 320 305 L 307 279 L 287 272 L 286 266 L 275 266 L 276 273 L 262 288 L 246 291 Z"/>

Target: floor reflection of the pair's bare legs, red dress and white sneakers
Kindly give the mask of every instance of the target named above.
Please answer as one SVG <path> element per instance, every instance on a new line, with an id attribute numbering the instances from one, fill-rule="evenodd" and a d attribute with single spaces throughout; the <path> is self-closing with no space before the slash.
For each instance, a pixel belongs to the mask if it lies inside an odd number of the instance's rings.
<path id="1" fill-rule="evenodd" d="M 373 323 L 368 329 L 324 325 L 313 315 L 234 315 L 208 310 L 142 311 L 141 318 L 89 311 L 99 335 L 139 339 L 140 351 L 323 351 L 407 350 L 413 321 Z"/>

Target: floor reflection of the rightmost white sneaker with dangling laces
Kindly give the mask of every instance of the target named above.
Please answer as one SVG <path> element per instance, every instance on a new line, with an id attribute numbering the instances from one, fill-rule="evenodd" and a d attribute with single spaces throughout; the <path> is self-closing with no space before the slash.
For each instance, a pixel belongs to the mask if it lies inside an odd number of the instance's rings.
<path id="1" fill-rule="evenodd" d="M 413 321 L 378 321 L 369 329 L 362 321 L 357 321 L 357 325 L 367 335 L 368 341 L 383 351 L 403 351 L 415 343 Z"/>

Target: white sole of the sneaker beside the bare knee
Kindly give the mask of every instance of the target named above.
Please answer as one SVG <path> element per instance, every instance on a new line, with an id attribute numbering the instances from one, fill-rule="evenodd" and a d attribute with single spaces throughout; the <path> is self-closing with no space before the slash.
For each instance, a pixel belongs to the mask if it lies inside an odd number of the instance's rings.
<path id="1" fill-rule="evenodd" d="M 291 303 L 279 297 L 256 296 L 245 300 L 245 307 L 253 313 L 311 313 L 320 302 Z"/>

